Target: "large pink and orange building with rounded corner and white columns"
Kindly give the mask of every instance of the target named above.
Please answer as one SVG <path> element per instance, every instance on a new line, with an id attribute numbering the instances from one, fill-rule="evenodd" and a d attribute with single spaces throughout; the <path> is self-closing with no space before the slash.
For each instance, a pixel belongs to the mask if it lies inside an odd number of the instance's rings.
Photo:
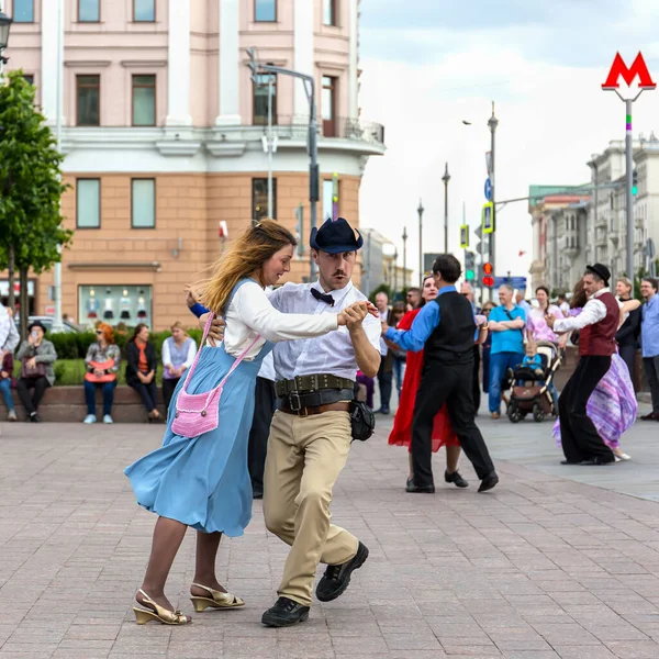
<path id="1" fill-rule="evenodd" d="M 319 223 L 340 214 L 359 224 L 361 176 L 384 145 L 382 126 L 359 116 L 358 0 L 62 3 L 59 15 L 59 0 L 4 0 L 8 69 L 34 83 L 52 126 L 62 108 L 63 214 L 75 230 L 64 313 L 155 330 L 185 317 L 183 286 L 267 216 L 264 137 L 277 138 L 272 215 L 308 243 L 309 101 L 292 77 L 253 80 L 249 47 L 313 76 Z M 309 258 L 298 255 L 286 280 L 309 277 Z M 33 313 L 52 306 L 52 283 L 51 273 L 33 280 Z"/>

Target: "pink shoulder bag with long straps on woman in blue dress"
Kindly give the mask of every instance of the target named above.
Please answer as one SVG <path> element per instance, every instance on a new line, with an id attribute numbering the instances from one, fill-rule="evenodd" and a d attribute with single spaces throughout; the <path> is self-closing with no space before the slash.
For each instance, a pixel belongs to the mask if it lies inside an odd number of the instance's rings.
<path id="1" fill-rule="evenodd" d="M 224 389 L 224 384 L 233 373 L 233 371 L 238 367 L 241 361 L 245 358 L 245 355 L 256 345 L 256 342 L 260 338 L 257 336 L 248 347 L 246 347 L 241 355 L 233 362 L 232 367 L 228 369 L 228 372 L 220 384 L 211 391 L 206 393 L 187 393 L 186 389 L 188 388 L 188 382 L 190 378 L 194 373 L 194 369 L 197 368 L 197 362 L 199 361 L 199 356 L 201 355 L 201 350 L 203 350 L 203 346 L 205 344 L 206 336 L 211 328 L 211 323 L 215 317 L 214 313 L 211 313 L 209 320 L 206 321 L 205 327 L 203 330 L 203 337 L 201 339 L 201 344 L 199 346 L 199 350 L 197 351 L 197 357 L 194 357 L 194 361 L 192 366 L 188 369 L 188 373 L 186 375 L 186 381 L 178 394 L 176 400 L 176 412 L 174 414 L 174 422 L 171 424 L 171 429 L 181 437 L 188 437 L 191 439 L 192 437 L 198 437 L 199 435 L 203 435 L 204 433 L 210 433 L 217 427 L 217 415 L 220 409 L 220 396 L 222 395 L 222 390 Z"/>

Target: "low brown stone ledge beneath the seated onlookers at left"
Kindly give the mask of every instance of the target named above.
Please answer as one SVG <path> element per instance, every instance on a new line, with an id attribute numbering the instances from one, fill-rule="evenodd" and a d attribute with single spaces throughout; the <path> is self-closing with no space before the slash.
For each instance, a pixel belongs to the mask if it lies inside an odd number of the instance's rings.
<path id="1" fill-rule="evenodd" d="M 25 411 L 19 398 L 18 391 L 12 389 L 16 416 L 20 421 L 25 418 Z M 0 398 L 0 420 L 7 418 L 7 411 Z M 158 411 L 165 415 L 163 392 L 158 387 Z M 46 390 L 44 400 L 38 406 L 38 415 L 42 421 L 56 422 L 81 422 L 87 416 L 87 403 L 85 402 L 85 390 L 80 387 L 51 387 Z M 103 395 L 97 390 L 97 418 L 103 417 Z M 139 394 L 127 386 L 118 386 L 114 389 L 114 402 L 112 404 L 112 420 L 115 423 L 143 423 L 148 421 L 146 410 L 142 404 Z"/>

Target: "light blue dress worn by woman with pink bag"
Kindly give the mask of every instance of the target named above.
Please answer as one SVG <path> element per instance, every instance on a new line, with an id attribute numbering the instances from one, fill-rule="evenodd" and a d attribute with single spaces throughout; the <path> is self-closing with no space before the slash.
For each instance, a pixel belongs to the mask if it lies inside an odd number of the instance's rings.
<path id="1" fill-rule="evenodd" d="M 245 283 L 236 284 L 233 294 Z M 232 294 L 232 297 L 233 297 Z M 144 456 L 124 473 L 137 503 L 163 517 L 204 533 L 243 535 L 252 518 L 252 482 L 247 440 L 254 415 L 256 376 L 273 344 L 266 342 L 253 361 L 243 360 L 228 377 L 220 398 L 214 431 L 187 438 L 171 431 L 181 378 L 169 406 L 163 446 Z M 235 361 L 221 345 L 204 346 L 188 384 L 188 393 L 216 387 Z"/>

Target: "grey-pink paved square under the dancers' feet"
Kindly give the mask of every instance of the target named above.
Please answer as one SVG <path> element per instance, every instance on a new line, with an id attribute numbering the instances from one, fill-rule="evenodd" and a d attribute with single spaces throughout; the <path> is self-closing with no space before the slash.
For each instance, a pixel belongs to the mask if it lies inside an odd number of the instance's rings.
<path id="1" fill-rule="evenodd" d="M 189 533 L 168 594 L 193 624 L 135 624 L 155 517 L 122 470 L 159 444 L 163 426 L 3 423 L 0 659 L 659 658 L 659 504 L 612 491 L 655 459 L 656 428 L 637 423 L 626 437 L 636 462 L 580 476 L 556 468 L 549 423 L 487 420 L 493 455 L 509 460 L 498 460 L 495 490 L 477 494 L 466 460 L 471 487 L 445 485 L 439 454 L 437 493 L 410 495 L 406 453 L 386 444 L 390 423 L 354 445 L 333 504 L 369 560 L 345 595 L 277 630 L 259 619 L 287 547 L 266 532 L 260 502 L 219 557 L 244 610 L 193 614 Z M 572 480 L 585 478 L 606 488 Z M 650 499 L 659 493 L 656 479 L 644 483 Z"/>

